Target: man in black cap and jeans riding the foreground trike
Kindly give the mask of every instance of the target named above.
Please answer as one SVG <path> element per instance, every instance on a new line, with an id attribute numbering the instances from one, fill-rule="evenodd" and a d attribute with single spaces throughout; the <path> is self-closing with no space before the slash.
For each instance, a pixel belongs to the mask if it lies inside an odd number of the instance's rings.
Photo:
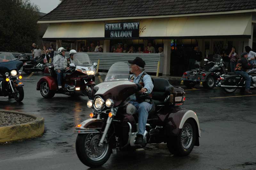
<path id="1" fill-rule="evenodd" d="M 131 73 L 129 81 L 134 83 L 140 83 L 142 85 L 142 89 L 139 94 L 132 95 L 130 103 L 133 104 L 139 113 L 139 132 L 136 136 L 135 144 L 142 145 L 143 144 L 143 135 L 146 130 L 146 123 L 148 120 L 148 112 L 152 109 L 153 104 L 152 100 L 148 97 L 143 99 L 145 96 L 145 92 L 150 94 L 153 90 L 153 82 L 146 72 L 144 72 L 145 62 L 140 57 L 136 57 L 133 61 L 128 61 L 131 64 Z M 147 94 L 147 95 L 148 95 Z M 140 99 L 139 99 L 140 98 Z M 138 100 L 139 99 L 139 100 Z"/>

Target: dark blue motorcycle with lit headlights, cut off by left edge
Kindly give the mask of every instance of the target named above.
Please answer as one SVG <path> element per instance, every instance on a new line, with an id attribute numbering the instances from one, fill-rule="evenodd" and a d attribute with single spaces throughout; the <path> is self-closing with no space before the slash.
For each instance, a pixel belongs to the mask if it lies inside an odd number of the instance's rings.
<path id="1" fill-rule="evenodd" d="M 22 65 L 21 61 L 15 60 L 0 63 L 0 96 L 9 96 L 18 102 L 23 100 Z"/>

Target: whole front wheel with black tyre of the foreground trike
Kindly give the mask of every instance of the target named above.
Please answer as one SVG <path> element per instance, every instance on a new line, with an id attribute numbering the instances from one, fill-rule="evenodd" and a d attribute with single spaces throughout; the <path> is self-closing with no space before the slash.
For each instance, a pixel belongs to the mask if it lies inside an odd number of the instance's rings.
<path id="1" fill-rule="evenodd" d="M 76 138 L 76 154 L 80 161 L 89 167 L 98 167 L 105 164 L 111 155 L 109 144 L 104 142 L 100 147 L 101 135 L 96 133 L 79 134 Z"/>

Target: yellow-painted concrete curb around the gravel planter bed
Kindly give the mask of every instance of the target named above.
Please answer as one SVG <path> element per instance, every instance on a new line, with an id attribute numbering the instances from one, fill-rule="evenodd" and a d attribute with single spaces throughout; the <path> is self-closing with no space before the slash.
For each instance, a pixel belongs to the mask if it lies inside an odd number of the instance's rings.
<path id="1" fill-rule="evenodd" d="M 44 118 L 34 114 L 24 112 L 0 110 L 0 112 L 9 112 L 13 114 L 22 114 L 34 118 L 34 121 L 17 125 L 0 127 L 0 143 L 14 142 L 24 139 L 30 139 L 42 136 L 44 133 Z"/>

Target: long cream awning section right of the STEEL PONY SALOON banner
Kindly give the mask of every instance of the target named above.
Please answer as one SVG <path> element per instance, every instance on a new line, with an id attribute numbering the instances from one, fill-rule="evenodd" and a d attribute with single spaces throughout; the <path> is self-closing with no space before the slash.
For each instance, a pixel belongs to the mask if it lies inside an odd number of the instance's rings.
<path id="1" fill-rule="evenodd" d="M 147 19 L 140 21 L 140 37 L 204 37 L 251 35 L 251 14 Z"/>

